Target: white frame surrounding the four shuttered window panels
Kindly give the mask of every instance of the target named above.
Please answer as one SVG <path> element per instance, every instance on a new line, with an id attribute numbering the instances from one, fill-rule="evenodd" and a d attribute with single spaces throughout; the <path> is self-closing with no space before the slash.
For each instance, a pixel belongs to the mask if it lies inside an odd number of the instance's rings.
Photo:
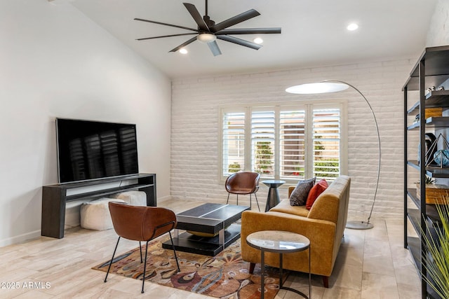
<path id="1" fill-rule="evenodd" d="M 279 142 L 281 142 L 280 138 L 280 111 L 286 111 L 291 109 L 295 110 L 304 110 L 305 113 L 305 123 L 304 123 L 304 160 L 308 158 L 313 158 L 313 110 L 314 109 L 340 109 L 340 174 L 348 173 L 348 122 L 347 122 L 347 99 L 304 99 L 298 100 L 295 102 L 279 102 L 276 104 L 234 104 L 234 105 L 223 105 L 219 107 L 219 127 L 218 127 L 218 179 L 221 182 L 224 182 L 227 178 L 227 175 L 223 172 L 223 120 L 225 113 L 245 113 L 245 125 L 244 125 L 244 162 L 243 162 L 243 171 L 251 171 L 252 167 L 252 138 L 251 138 L 251 120 L 253 111 L 268 111 L 273 109 L 275 111 L 274 117 L 274 131 L 275 131 L 275 141 L 276 151 L 274 151 L 274 178 L 271 179 L 279 179 L 281 174 L 281 160 L 280 160 L 280 151 L 279 151 Z M 313 162 L 306 162 L 304 169 L 304 176 L 310 176 L 313 174 Z M 261 179 L 264 179 L 261 176 Z M 268 178 L 267 178 L 268 179 Z M 283 181 L 286 181 L 287 184 L 297 183 L 300 179 L 285 179 L 282 178 Z M 309 179 L 309 178 L 305 178 Z"/>

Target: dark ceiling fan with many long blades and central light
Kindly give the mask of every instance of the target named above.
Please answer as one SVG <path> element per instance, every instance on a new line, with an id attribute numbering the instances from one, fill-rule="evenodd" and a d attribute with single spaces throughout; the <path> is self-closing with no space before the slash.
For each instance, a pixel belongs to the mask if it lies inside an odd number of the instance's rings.
<path id="1" fill-rule="evenodd" d="M 187 46 L 189 43 L 193 43 L 194 41 L 199 40 L 199 41 L 203 41 L 204 43 L 207 43 L 210 48 L 210 51 L 212 51 L 213 55 L 217 56 L 217 55 L 221 55 L 222 52 L 220 51 L 220 48 L 218 48 L 216 39 L 221 39 L 222 41 L 229 41 L 230 43 L 236 43 L 237 45 L 245 46 L 245 47 L 252 48 L 255 50 L 259 50 L 262 47 L 260 44 L 253 43 L 250 41 L 245 41 L 243 39 L 238 39 L 234 36 L 230 36 L 229 34 L 280 34 L 281 33 L 280 27 L 227 29 L 228 27 L 239 24 L 239 23 L 249 20 L 251 18 L 257 17 L 257 15 L 260 15 L 260 13 L 257 12 L 255 9 L 250 9 L 249 11 L 246 11 L 239 15 L 235 15 L 232 18 L 224 20 L 218 24 L 215 24 L 215 22 L 213 20 L 210 20 L 210 17 L 208 15 L 208 0 L 206 0 L 206 15 L 204 15 L 203 17 L 201 17 L 201 14 L 199 13 L 199 11 L 196 9 L 196 7 L 193 4 L 184 3 L 184 6 L 185 6 L 185 8 L 187 8 L 187 11 L 189 11 L 190 15 L 192 15 L 192 18 L 194 18 L 196 24 L 198 25 L 197 29 L 173 25 L 173 24 L 167 24 L 167 23 L 163 23 L 163 22 L 145 20 L 145 19 L 140 19 L 140 18 L 135 18 L 134 20 L 138 20 L 138 21 L 142 21 L 142 22 L 150 22 L 150 23 L 165 25 L 165 26 L 170 26 L 170 27 L 176 27 L 176 28 L 180 28 L 180 29 L 186 29 L 189 31 L 193 31 L 194 33 L 170 34 L 170 35 L 163 35 L 163 36 L 145 37 L 143 39 L 137 39 L 137 41 L 145 41 L 147 39 L 161 39 L 164 37 L 184 36 L 184 35 L 195 34 L 196 36 L 192 37 L 192 39 L 189 39 L 185 43 L 180 44 L 180 46 L 173 48 L 172 50 L 170 50 L 170 52 L 176 52 L 177 50 L 180 50 L 181 48 Z"/>

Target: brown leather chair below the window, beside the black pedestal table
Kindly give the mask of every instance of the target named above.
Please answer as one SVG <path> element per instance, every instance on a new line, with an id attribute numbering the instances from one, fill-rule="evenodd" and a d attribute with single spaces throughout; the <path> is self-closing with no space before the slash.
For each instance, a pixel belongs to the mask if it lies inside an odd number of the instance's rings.
<path id="1" fill-rule="evenodd" d="M 237 204 L 239 204 L 240 195 L 250 195 L 250 207 L 251 207 L 251 195 L 254 194 L 255 202 L 257 202 L 257 208 L 260 211 L 259 202 L 257 201 L 257 195 L 255 194 L 259 190 L 260 174 L 257 172 L 236 172 L 227 177 L 225 188 L 227 190 L 227 201 L 229 202 L 229 194 L 237 195 Z"/>

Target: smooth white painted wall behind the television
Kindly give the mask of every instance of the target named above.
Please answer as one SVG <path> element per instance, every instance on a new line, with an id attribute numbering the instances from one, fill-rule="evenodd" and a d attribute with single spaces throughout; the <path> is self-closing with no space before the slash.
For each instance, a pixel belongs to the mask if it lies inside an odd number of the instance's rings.
<path id="1" fill-rule="evenodd" d="M 170 80 L 69 4 L 0 1 L 0 246 L 40 235 L 56 117 L 136 123 L 140 172 L 170 194 Z"/>

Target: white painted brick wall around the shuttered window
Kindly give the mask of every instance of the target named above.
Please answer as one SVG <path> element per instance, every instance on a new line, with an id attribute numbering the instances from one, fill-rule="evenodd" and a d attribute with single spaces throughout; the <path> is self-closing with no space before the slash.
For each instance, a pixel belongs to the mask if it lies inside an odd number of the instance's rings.
<path id="1" fill-rule="evenodd" d="M 380 128 L 382 167 L 374 218 L 403 217 L 403 93 L 401 88 L 417 57 L 334 67 L 292 69 L 259 74 L 176 79 L 172 83 L 171 195 L 181 200 L 226 202 L 218 176 L 219 106 L 293 101 L 290 85 L 326 79 L 356 86 L 368 98 Z M 302 96 L 304 97 L 304 96 Z M 354 90 L 312 97 L 347 98 L 349 130 L 349 219 L 368 217 L 377 174 L 377 137 L 371 113 Z M 287 196 L 286 186 L 280 189 Z M 264 209 L 268 188 L 257 197 Z M 235 197 L 232 196 L 235 200 Z M 239 197 L 239 203 L 245 203 Z M 246 202 L 248 204 L 248 201 Z M 253 204 L 255 202 L 253 201 Z M 254 209 L 254 207 L 253 207 Z"/>

